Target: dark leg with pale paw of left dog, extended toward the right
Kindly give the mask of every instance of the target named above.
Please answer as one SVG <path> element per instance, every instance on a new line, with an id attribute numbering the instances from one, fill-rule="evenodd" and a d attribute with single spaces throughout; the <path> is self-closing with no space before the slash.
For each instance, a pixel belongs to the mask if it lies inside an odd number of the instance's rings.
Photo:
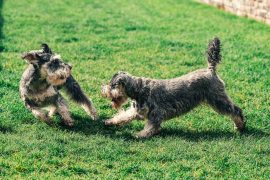
<path id="1" fill-rule="evenodd" d="M 79 83 L 72 76 L 67 78 L 67 81 L 64 84 L 64 87 L 68 95 L 71 97 L 71 99 L 74 100 L 76 103 L 80 104 L 82 108 L 85 110 L 85 112 L 89 116 L 91 116 L 93 120 L 98 119 L 98 114 L 93 103 L 85 95 Z"/>

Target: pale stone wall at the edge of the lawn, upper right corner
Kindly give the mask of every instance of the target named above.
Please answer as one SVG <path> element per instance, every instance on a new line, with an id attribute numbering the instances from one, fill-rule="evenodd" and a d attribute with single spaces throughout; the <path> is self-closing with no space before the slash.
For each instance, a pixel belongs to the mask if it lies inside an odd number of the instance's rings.
<path id="1" fill-rule="evenodd" d="M 270 24 L 270 0 L 199 0 L 232 12 Z"/>

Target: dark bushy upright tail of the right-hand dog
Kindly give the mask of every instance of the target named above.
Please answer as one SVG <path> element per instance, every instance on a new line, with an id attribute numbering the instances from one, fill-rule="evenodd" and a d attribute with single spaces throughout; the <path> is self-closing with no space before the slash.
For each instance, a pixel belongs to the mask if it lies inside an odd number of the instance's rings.
<path id="1" fill-rule="evenodd" d="M 214 38 L 208 44 L 208 49 L 206 51 L 208 59 L 208 68 L 216 70 L 217 64 L 221 61 L 220 55 L 221 44 L 219 38 Z"/>

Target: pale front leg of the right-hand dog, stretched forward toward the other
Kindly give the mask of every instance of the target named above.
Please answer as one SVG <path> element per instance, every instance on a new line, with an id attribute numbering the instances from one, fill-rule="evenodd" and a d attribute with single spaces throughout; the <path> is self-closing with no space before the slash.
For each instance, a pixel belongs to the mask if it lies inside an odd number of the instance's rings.
<path id="1" fill-rule="evenodd" d="M 135 118 L 140 117 L 138 115 L 136 107 L 131 105 L 130 108 L 128 108 L 126 111 L 120 111 L 118 114 L 116 114 L 113 118 L 105 121 L 106 125 L 122 125 L 131 122 Z M 142 118 L 142 117 L 140 117 Z"/>

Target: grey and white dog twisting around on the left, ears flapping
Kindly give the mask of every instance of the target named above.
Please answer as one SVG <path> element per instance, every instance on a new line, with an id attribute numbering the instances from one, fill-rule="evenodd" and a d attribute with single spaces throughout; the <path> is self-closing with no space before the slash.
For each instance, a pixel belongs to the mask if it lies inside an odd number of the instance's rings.
<path id="1" fill-rule="evenodd" d="M 66 90 L 71 99 L 80 104 L 92 119 L 98 118 L 92 102 L 72 77 L 72 67 L 63 62 L 60 55 L 53 53 L 47 44 L 42 44 L 41 50 L 24 53 L 22 59 L 29 65 L 22 75 L 20 95 L 25 106 L 36 118 L 51 124 L 51 118 L 57 112 L 67 126 L 73 126 L 74 121 L 67 103 L 59 92 L 61 88 Z M 49 111 L 46 111 L 46 108 Z"/>

